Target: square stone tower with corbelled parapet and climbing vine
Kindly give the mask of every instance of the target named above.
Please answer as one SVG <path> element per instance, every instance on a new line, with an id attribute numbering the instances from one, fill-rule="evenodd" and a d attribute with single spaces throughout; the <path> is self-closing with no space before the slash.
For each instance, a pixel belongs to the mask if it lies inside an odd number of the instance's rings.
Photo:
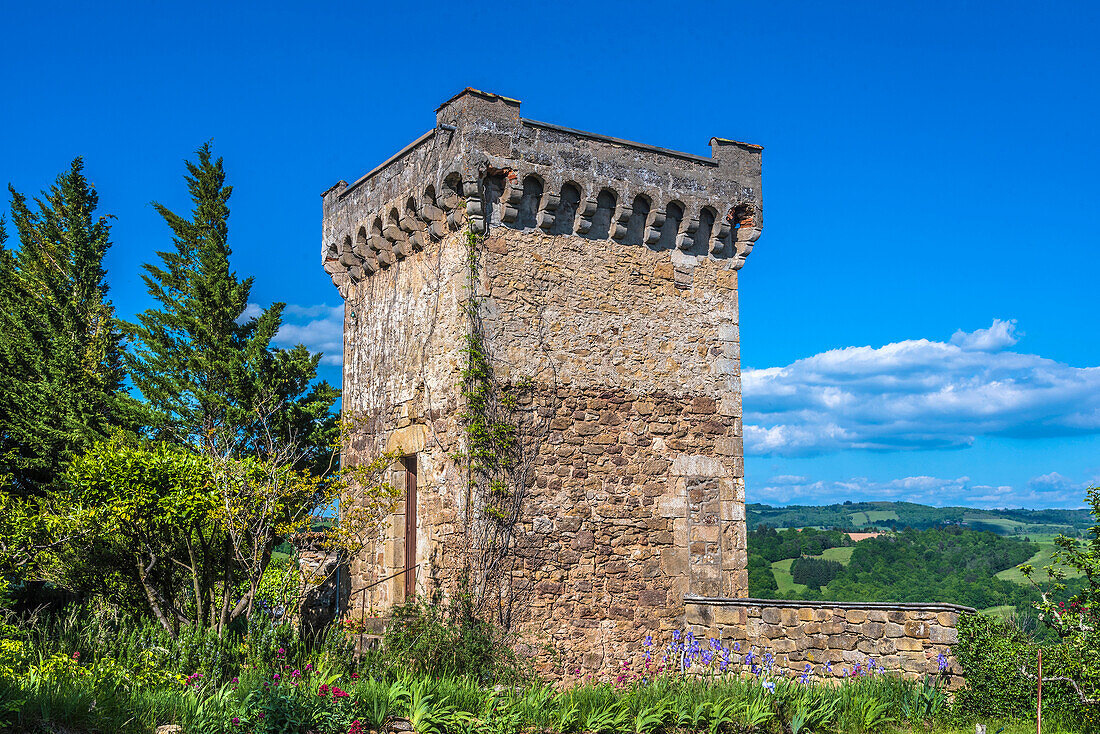
<path id="1" fill-rule="evenodd" d="M 461 588 L 593 671 L 682 624 L 685 595 L 746 594 L 737 272 L 760 153 L 570 130 L 465 89 L 322 195 L 344 460 L 405 457 L 352 615 Z"/>

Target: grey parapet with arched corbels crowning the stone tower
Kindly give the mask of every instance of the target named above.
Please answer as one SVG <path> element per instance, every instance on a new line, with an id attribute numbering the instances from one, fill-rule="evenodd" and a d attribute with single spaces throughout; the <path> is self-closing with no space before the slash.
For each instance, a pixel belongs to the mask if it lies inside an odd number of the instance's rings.
<path id="1" fill-rule="evenodd" d="M 745 264 L 762 226 L 761 147 L 722 138 L 704 157 L 526 120 L 514 99 L 465 89 L 437 125 L 323 197 L 324 270 L 352 283 L 469 223 Z"/>

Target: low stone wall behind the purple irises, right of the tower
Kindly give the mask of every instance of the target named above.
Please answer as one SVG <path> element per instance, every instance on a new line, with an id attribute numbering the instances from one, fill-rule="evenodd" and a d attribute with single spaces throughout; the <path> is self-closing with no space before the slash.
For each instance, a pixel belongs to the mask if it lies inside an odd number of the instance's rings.
<path id="1" fill-rule="evenodd" d="M 686 596 L 684 622 L 696 637 L 717 637 L 741 653 L 774 655 L 776 668 L 814 677 L 843 677 L 857 665 L 920 678 L 941 669 L 961 670 L 950 646 L 958 639 L 960 614 L 977 614 L 956 604 L 878 604 L 776 599 Z"/>

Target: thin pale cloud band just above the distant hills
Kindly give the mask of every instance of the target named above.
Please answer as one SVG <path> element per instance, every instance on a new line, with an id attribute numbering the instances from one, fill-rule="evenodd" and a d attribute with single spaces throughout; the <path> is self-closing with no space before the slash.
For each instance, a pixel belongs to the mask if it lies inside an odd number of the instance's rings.
<path id="1" fill-rule="evenodd" d="M 1052 481 L 1052 478 L 1055 478 Z M 802 481 L 792 481 L 802 480 Z M 855 476 L 844 481 L 809 481 L 801 476 L 780 475 L 757 486 L 747 480 L 746 494 L 751 502 L 771 505 L 832 504 L 853 502 L 915 502 L 935 507 L 1080 507 L 1087 483 L 1075 483 L 1057 472 L 1036 476 L 1026 490 L 1009 485 L 974 483 L 969 476 L 903 476 L 886 481 Z"/>

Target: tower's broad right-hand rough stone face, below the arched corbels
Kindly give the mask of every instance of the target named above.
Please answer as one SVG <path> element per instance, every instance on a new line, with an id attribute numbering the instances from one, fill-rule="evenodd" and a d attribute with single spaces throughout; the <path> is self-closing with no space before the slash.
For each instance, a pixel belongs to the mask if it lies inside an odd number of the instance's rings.
<path id="1" fill-rule="evenodd" d="M 522 627 L 606 669 L 686 593 L 747 591 L 737 273 L 493 229 L 481 263 L 498 373 L 552 393 L 522 533 Z"/>

